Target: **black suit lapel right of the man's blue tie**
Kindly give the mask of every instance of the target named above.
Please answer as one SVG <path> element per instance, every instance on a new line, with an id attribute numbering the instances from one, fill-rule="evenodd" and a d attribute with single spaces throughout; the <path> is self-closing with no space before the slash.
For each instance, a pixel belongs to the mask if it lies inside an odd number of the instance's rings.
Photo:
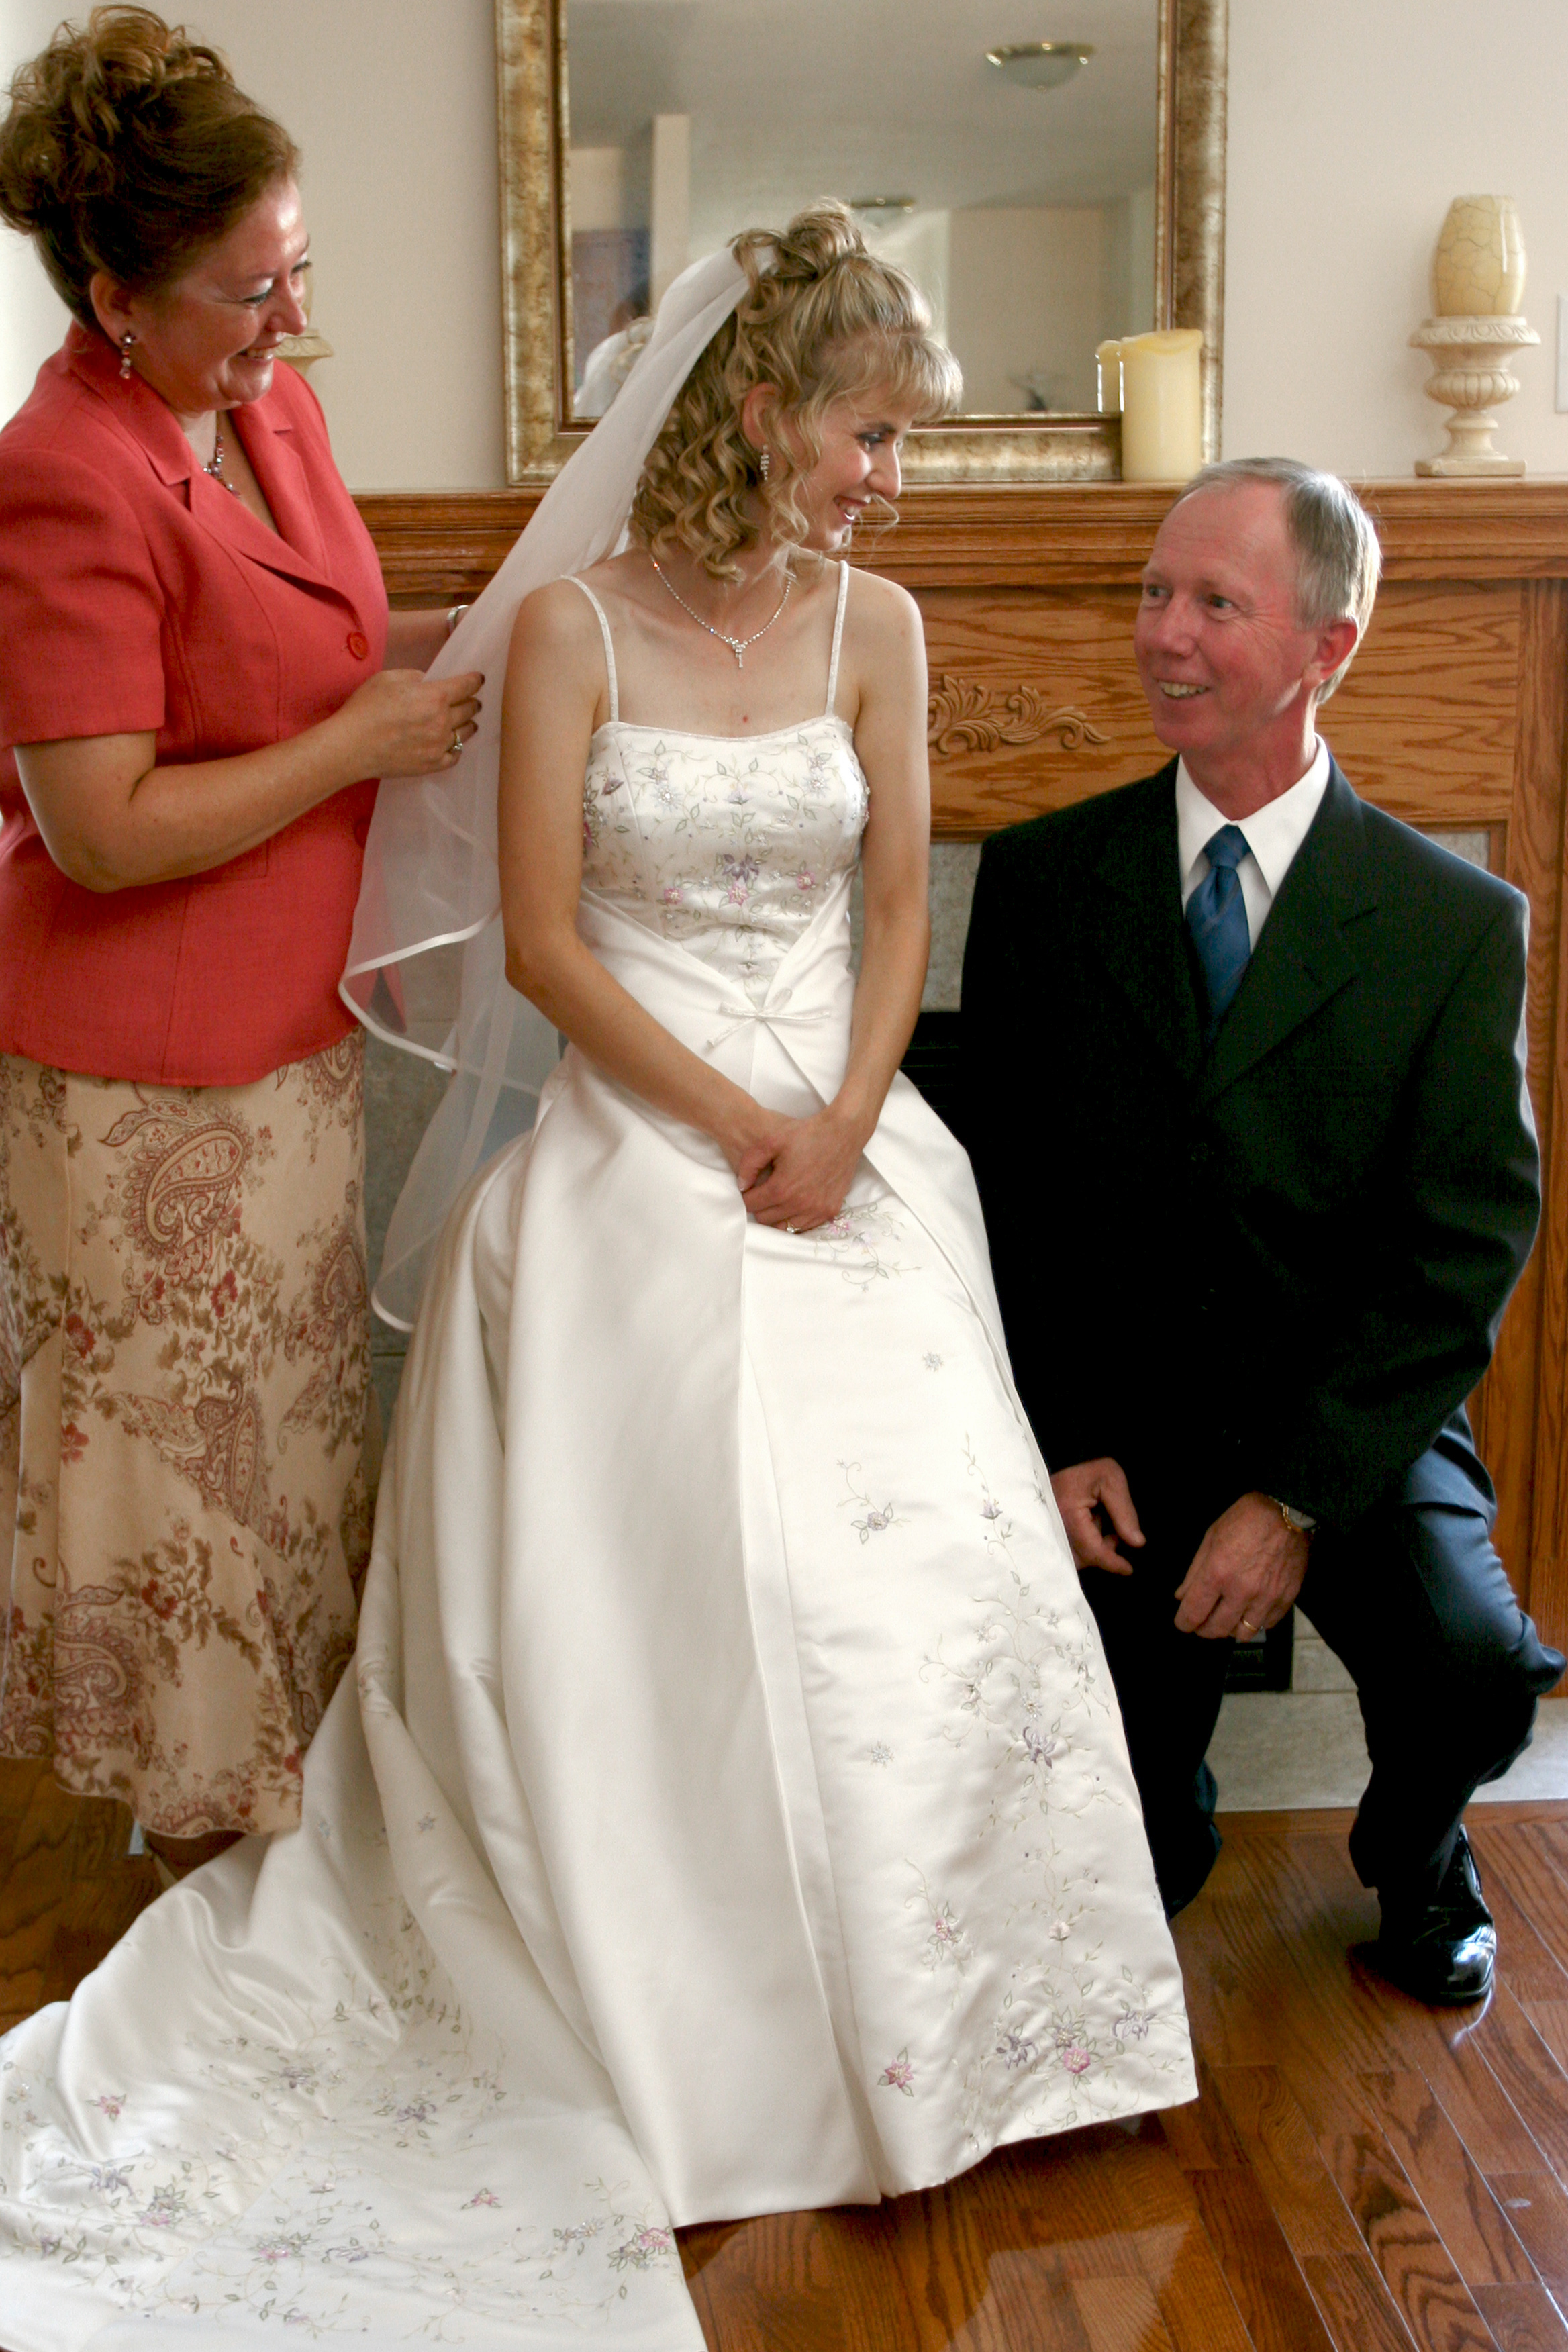
<path id="1" fill-rule="evenodd" d="M 1199 1080 L 1211 1103 L 1312 1018 L 1356 974 L 1345 927 L 1375 906 L 1366 873 L 1361 804 L 1338 762 L 1312 830 L 1269 908 L 1258 953 Z"/>

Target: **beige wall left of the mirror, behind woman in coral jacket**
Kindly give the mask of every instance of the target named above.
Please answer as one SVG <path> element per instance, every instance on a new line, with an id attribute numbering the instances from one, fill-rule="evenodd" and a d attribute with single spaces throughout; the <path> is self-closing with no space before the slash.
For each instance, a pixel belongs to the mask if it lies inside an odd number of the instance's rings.
<path id="1" fill-rule="evenodd" d="M 0 0 L 0 73 L 66 0 Z M 87 0 L 73 0 L 73 16 Z M 355 489 L 505 480 L 491 0 L 162 0 L 228 54 L 306 153 L 313 386 Z M 63 310 L 0 233 L 0 414 L 54 350 Z"/>

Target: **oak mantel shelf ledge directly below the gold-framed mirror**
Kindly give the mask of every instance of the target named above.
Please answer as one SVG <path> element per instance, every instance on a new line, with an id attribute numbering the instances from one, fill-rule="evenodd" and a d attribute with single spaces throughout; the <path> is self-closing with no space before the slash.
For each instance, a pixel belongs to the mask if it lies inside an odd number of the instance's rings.
<path id="1" fill-rule="evenodd" d="M 473 597 L 538 506 L 536 489 L 360 496 L 397 604 Z M 1568 579 L 1568 475 L 1521 482 L 1363 482 L 1385 574 L 1450 581 Z M 964 482 L 907 489 L 898 529 L 860 562 L 907 588 L 1131 586 L 1171 494 L 1143 482 Z"/>

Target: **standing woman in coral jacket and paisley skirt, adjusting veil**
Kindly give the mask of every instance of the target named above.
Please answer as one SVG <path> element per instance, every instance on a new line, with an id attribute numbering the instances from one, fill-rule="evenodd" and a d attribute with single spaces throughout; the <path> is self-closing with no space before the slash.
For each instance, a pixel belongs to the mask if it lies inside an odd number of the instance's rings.
<path id="1" fill-rule="evenodd" d="M 0 1752 L 174 1870 L 299 1820 L 355 1639 L 374 1404 L 378 776 L 477 675 L 388 616 L 320 407 L 287 134 L 136 7 L 12 85 L 0 216 L 73 327 L 0 433 Z M 388 661 L 397 663 L 386 668 Z"/>

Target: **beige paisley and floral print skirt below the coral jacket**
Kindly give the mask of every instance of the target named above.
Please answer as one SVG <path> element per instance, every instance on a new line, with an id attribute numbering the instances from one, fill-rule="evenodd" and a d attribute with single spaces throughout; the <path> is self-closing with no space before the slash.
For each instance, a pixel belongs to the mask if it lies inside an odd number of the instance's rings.
<path id="1" fill-rule="evenodd" d="M 376 1446 L 362 1033 L 252 1087 L 0 1056 L 0 1752 L 294 1828 Z"/>

